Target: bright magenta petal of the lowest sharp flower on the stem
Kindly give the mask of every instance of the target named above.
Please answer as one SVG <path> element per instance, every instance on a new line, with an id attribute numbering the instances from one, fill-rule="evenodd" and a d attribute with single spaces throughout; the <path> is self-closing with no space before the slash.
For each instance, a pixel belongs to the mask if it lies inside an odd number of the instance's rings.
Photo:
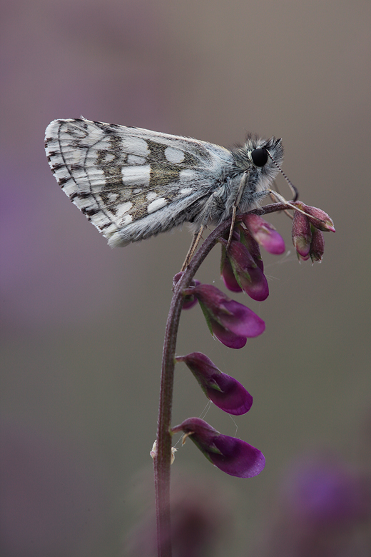
<path id="1" fill-rule="evenodd" d="M 263 453 L 241 439 L 220 435 L 213 439 L 213 444 L 221 454 L 210 451 L 210 460 L 230 476 L 253 478 L 258 476 L 265 466 Z"/>

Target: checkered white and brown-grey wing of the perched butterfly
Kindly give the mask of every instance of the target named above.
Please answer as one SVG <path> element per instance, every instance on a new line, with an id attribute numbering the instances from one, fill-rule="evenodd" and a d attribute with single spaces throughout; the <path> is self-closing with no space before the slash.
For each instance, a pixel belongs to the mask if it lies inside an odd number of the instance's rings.
<path id="1" fill-rule="evenodd" d="M 45 144 L 61 188 L 111 246 L 190 220 L 231 164 L 220 146 L 84 119 L 54 120 Z"/>

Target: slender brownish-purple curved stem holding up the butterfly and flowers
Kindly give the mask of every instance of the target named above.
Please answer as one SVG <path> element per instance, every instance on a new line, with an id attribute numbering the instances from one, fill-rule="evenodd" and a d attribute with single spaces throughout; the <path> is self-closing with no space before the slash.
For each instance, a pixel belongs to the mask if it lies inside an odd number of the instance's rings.
<path id="1" fill-rule="evenodd" d="M 287 209 L 285 204 L 271 204 L 250 211 L 254 214 L 267 214 Z M 291 209 L 291 207 L 290 207 Z M 173 405 L 173 383 L 176 356 L 176 338 L 183 306 L 183 291 L 190 286 L 196 271 L 218 242 L 220 236 L 230 228 L 232 219 L 217 226 L 200 246 L 189 266 L 185 269 L 174 288 L 173 298 L 166 322 L 161 368 L 160 401 L 157 422 L 155 469 L 156 521 L 158 557 L 171 557 L 171 515 L 170 515 L 170 466 L 171 466 L 171 411 Z M 236 220 L 240 220 L 237 216 Z"/>

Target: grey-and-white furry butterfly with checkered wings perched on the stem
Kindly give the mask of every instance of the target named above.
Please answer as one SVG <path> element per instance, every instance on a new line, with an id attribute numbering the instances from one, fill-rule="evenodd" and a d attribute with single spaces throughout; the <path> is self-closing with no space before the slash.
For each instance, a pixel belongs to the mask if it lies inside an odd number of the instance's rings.
<path id="1" fill-rule="evenodd" d="M 224 147 L 86 119 L 54 120 L 46 156 L 61 189 L 111 247 L 183 223 L 195 234 L 260 204 L 283 162 L 281 139 Z"/>

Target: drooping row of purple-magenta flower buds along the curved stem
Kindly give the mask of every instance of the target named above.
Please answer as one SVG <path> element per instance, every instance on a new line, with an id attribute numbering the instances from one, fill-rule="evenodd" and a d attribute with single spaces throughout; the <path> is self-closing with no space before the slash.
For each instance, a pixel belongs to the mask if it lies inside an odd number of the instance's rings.
<path id="1" fill-rule="evenodd" d="M 322 231 L 335 231 L 330 217 L 320 209 L 299 201 L 288 204 L 293 209 L 293 244 L 300 259 L 321 261 L 323 255 Z M 257 214 L 240 216 L 232 238 L 222 236 L 220 272 L 225 286 L 233 292 L 245 292 L 256 301 L 268 298 L 268 281 L 265 278 L 260 246 L 270 254 L 280 255 L 285 243 L 278 232 Z M 174 277 L 174 289 L 182 273 Z M 196 303 L 205 316 L 210 333 L 228 348 L 243 348 L 247 338 L 260 335 L 265 323 L 250 308 L 225 295 L 215 286 L 191 281 L 183 290 L 183 309 Z M 205 396 L 221 410 L 235 416 L 248 412 L 253 397 L 235 378 L 222 373 L 217 366 L 200 352 L 176 356 L 193 373 Z M 258 475 L 265 458 L 255 447 L 240 439 L 222 435 L 200 418 L 188 418 L 171 429 L 183 431 L 184 440 L 190 437 L 196 446 L 215 466 L 231 476 L 250 478 Z"/>

